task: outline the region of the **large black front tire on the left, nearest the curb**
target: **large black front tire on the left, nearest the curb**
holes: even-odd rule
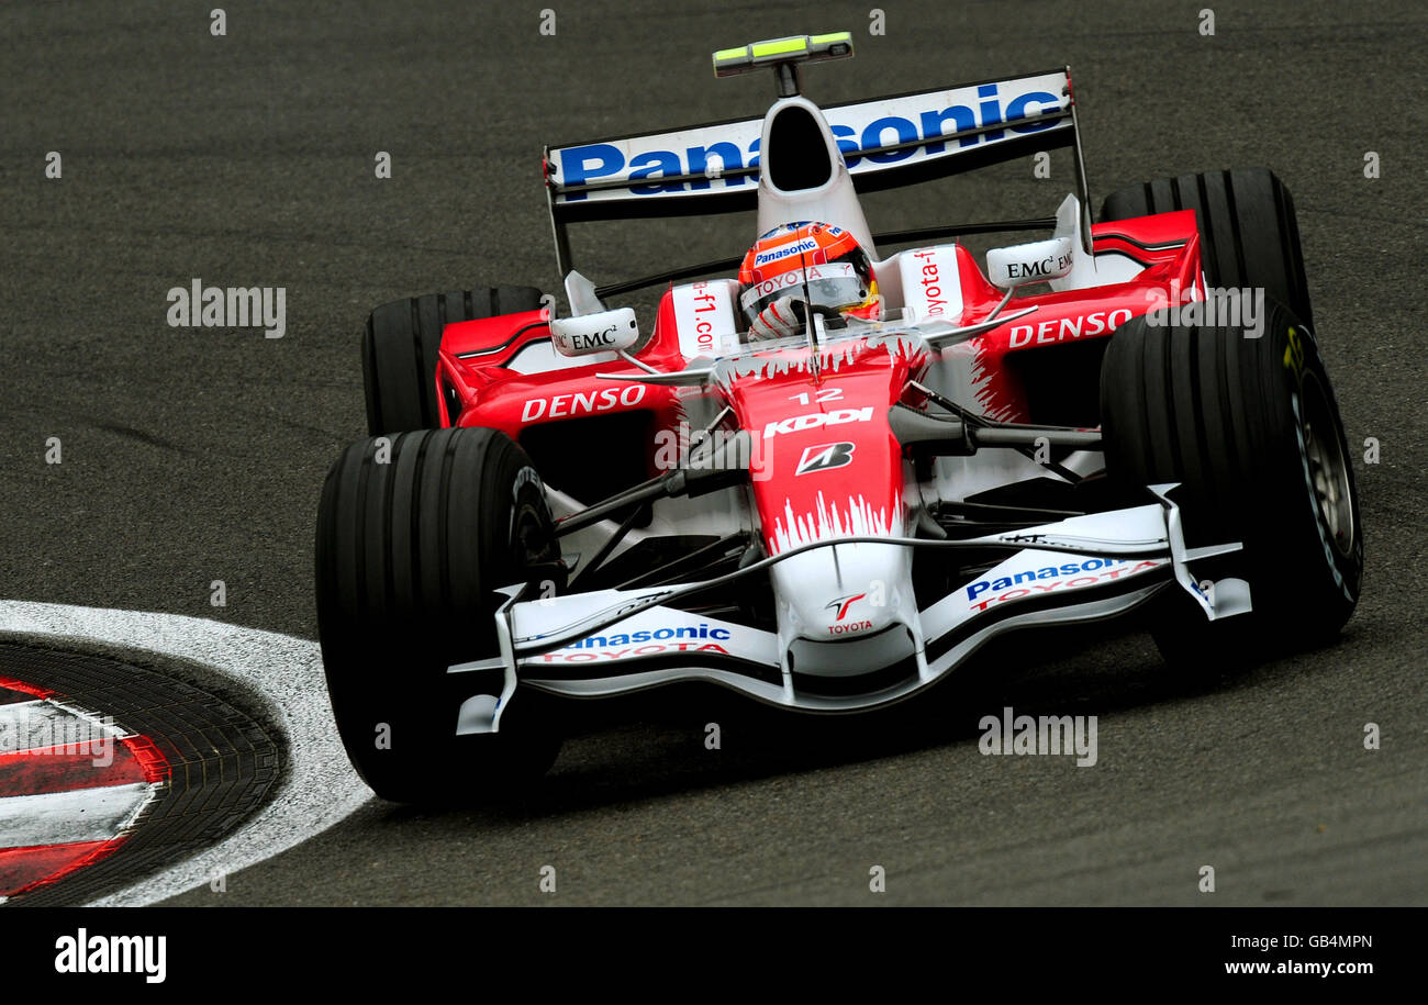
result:
[[[384,799],[508,791],[544,774],[560,734],[544,695],[517,691],[500,732],[456,735],[461,702],[501,692],[494,590],[558,560],[544,490],[506,434],[436,430],[348,447],[323,487],[317,617],[333,715]]]

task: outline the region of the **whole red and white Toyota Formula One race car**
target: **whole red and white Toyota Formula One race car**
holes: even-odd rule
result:
[[[544,772],[555,697],[858,711],[1022,628],[1137,612],[1204,668],[1352,612],[1354,474],[1279,180],[1151,181],[1092,224],[1068,69],[820,110],[803,66],[851,51],[724,50],[717,76],[774,73],[763,120],[547,148],[567,317],[523,287],[371,313],[317,601],[378,795]],[[868,230],[860,191],[1052,148],[1077,177],[1054,216]],[[740,208],[748,254],[571,268],[571,223]],[[1038,230],[985,271],[954,240]],[[664,284],[641,338],[611,301]]]

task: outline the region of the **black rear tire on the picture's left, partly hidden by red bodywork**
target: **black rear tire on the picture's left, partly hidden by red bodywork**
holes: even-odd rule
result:
[[[367,433],[377,437],[441,427],[447,407],[437,394],[441,330],[456,321],[540,310],[541,296],[527,286],[433,293],[394,300],[368,314],[361,355]],[[454,423],[456,417],[448,417],[448,424]]]

